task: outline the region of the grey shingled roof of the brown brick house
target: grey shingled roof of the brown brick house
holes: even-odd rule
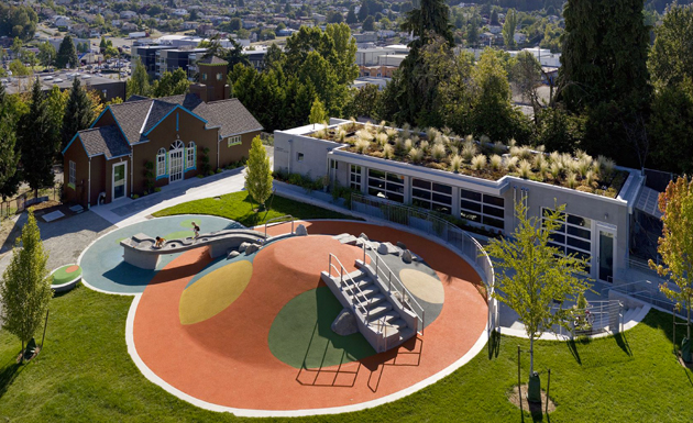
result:
[[[207,129],[219,127],[220,137],[262,130],[238,99],[206,103],[195,94],[158,99],[132,96],[123,103],[109,105],[114,125],[85,130],[78,134],[89,156],[103,154],[110,159],[129,154],[130,145],[146,141],[148,131],[176,108],[183,108],[207,121]]]

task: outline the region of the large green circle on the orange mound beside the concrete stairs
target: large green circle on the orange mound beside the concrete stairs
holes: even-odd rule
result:
[[[340,311],[342,304],[327,287],[295,297],[272,322],[270,350],[297,369],[338,366],[374,355],[361,333],[341,336],[332,332],[330,326]]]

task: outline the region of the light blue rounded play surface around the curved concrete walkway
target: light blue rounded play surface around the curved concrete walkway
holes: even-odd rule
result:
[[[200,226],[200,233],[244,227],[228,219],[193,214],[156,218],[121,227],[102,236],[87,248],[79,261],[84,280],[107,292],[140,293],[144,291],[154,275],[178,254],[162,255],[156,270],[145,270],[123,261],[123,247],[120,246],[120,241],[138,233],[163,236],[166,240],[193,236],[191,222]]]

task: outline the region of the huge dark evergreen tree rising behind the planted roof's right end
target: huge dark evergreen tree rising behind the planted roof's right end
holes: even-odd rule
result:
[[[563,16],[559,98],[568,111],[587,116],[582,147],[644,165],[642,143],[630,135],[649,114],[642,0],[569,0]]]

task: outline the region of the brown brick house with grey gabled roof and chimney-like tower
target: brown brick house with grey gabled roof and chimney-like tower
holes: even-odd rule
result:
[[[229,98],[227,66],[216,57],[199,63],[207,85],[193,86],[195,93],[133,96],[107,107],[63,151],[66,201],[87,208],[125,201],[197,177],[206,162],[213,171],[248,157],[262,126],[238,99]]]

